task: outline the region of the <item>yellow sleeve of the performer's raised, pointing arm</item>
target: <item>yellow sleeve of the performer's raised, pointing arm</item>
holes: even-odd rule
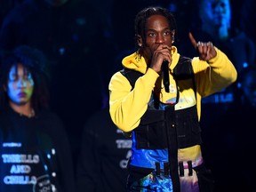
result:
[[[224,52],[214,47],[217,56],[207,63],[199,58],[192,60],[195,73],[197,92],[202,96],[208,96],[214,92],[228,87],[237,78],[236,68]]]

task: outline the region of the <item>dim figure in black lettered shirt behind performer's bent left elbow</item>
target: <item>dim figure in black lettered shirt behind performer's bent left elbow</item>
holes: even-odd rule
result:
[[[84,125],[78,158],[77,192],[126,192],[132,140],[117,129],[106,107]]]

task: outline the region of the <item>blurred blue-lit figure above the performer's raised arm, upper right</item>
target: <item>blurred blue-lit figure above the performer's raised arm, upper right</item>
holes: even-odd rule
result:
[[[191,25],[191,31],[196,38],[202,41],[210,40],[212,44],[220,47],[227,53],[228,58],[234,63],[237,72],[252,64],[255,58],[255,45],[244,31],[232,26],[232,9],[229,0],[197,0],[198,23]],[[193,47],[181,46],[181,52],[195,56]]]

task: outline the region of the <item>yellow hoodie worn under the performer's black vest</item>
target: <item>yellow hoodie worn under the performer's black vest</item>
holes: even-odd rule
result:
[[[226,54],[214,47],[217,56],[209,62],[199,60],[198,57],[192,59],[192,68],[195,74],[196,98],[193,86],[180,90],[180,100],[175,105],[175,110],[189,108],[196,104],[198,118],[201,115],[201,98],[227,87],[236,81],[236,68],[233,66]],[[164,103],[172,102],[176,97],[177,89],[173,80],[172,70],[178,63],[180,54],[175,46],[172,46],[172,65],[170,66],[170,92],[164,91],[164,84],[160,94],[160,101]],[[109,89],[109,112],[116,126],[124,132],[131,132],[140,124],[140,117],[148,108],[148,101],[155,87],[156,79],[159,75],[151,68],[148,68],[143,57],[134,52],[122,61],[124,68],[131,68],[140,71],[144,76],[140,76],[134,85],[116,72],[108,85]],[[186,85],[185,85],[186,86]],[[179,88],[178,88],[179,89]],[[131,91],[132,90],[132,91]]]

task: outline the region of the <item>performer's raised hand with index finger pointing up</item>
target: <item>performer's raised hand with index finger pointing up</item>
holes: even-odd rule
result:
[[[204,43],[204,42],[198,41],[196,43],[194,36],[192,36],[192,34],[190,32],[188,33],[188,37],[191,41],[191,44],[193,44],[196,51],[198,52],[200,60],[209,61],[212,58],[216,57],[217,52],[214,49],[212,42]]]

